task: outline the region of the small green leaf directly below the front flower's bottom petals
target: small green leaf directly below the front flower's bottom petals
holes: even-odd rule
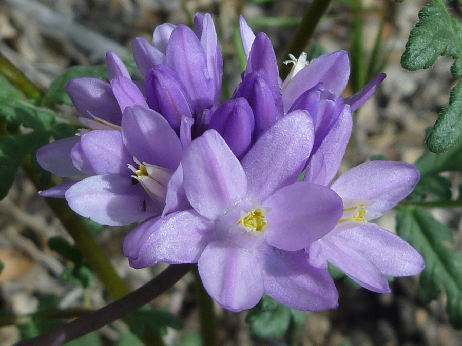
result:
[[[287,333],[290,326],[291,309],[264,295],[257,306],[249,311],[245,321],[252,335],[260,339],[279,339]]]

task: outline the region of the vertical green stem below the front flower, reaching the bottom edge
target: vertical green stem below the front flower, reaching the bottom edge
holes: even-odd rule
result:
[[[192,271],[196,288],[196,299],[201,320],[201,336],[203,346],[217,346],[217,326],[214,312],[214,301],[205,291],[197,267]]]

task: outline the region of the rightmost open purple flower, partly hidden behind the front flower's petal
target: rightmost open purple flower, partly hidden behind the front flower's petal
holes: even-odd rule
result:
[[[372,161],[354,167],[331,189],[343,199],[338,225],[308,249],[371,291],[390,293],[386,276],[409,276],[425,268],[424,259],[406,241],[369,221],[409,195],[418,170],[402,162]],[[305,176],[305,181],[311,181]]]

